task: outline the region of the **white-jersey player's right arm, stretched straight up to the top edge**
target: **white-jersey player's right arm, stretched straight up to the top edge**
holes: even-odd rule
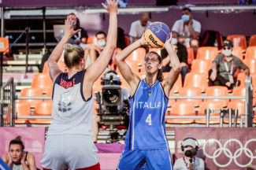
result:
[[[104,72],[113,56],[113,51],[117,47],[117,9],[119,0],[117,2],[114,0],[106,1],[108,6],[105,6],[105,4],[102,3],[102,6],[109,12],[109,31],[106,46],[98,59],[87,68],[87,72],[84,75],[84,83],[92,84],[102,75],[102,72]]]

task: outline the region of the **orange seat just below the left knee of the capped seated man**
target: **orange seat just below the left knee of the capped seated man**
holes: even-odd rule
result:
[[[206,96],[228,96],[228,87],[224,86],[212,86],[206,89]],[[205,99],[205,102],[219,102],[222,107],[226,107],[228,105],[228,99]]]

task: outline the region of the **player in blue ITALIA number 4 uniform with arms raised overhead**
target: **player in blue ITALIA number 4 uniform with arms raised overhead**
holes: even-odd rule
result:
[[[150,170],[173,169],[165,135],[165,111],[169,92],[180,74],[180,61],[170,42],[171,39],[168,39],[164,47],[169,53],[173,68],[166,79],[161,74],[161,57],[155,52],[147,53],[144,58],[145,79],[139,79],[125,62],[132,51],[147,45],[144,35],[117,54],[117,66],[131,87],[130,124],[117,169],[135,170],[145,163]]]

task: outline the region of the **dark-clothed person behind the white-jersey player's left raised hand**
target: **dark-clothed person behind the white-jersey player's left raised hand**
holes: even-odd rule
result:
[[[68,16],[76,17],[75,13],[69,13]],[[76,33],[76,35],[73,35],[69,39],[68,43],[80,45],[83,48],[87,48],[87,44],[86,44],[87,43],[87,38],[88,38],[87,31],[85,31],[83,28],[80,28],[80,20],[78,18],[76,18],[76,20],[74,20],[73,28],[74,28],[75,31],[78,30],[78,29],[80,29],[80,31],[78,31]],[[60,41],[63,38],[63,36],[64,36],[64,32],[60,35],[60,38],[59,38]]]

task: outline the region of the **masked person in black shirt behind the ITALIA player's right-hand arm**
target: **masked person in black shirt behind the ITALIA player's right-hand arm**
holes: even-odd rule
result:
[[[182,83],[184,83],[185,76],[188,72],[187,68],[187,48],[180,42],[178,42],[179,39],[179,34],[176,31],[172,31],[172,42],[173,46],[175,47],[175,51],[177,56],[179,57],[180,60],[180,74],[182,76]],[[168,53],[165,49],[161,50],[161,58],[162,58],[162,67],[161,67],[161,72],[169,72],[172,68],[172,65],[170,63],[170,59],[168,57]]]

